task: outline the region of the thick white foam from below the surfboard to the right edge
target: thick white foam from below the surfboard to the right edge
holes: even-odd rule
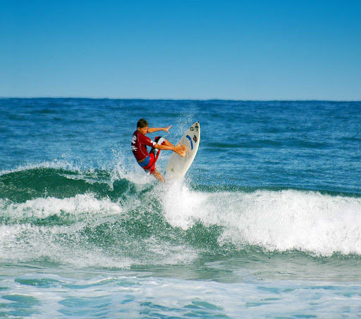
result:
[[[196,220],[224,227],[221,245],[361,255],[361,199],[293,190],[202,193],[173,184],[163,207],[173,227],[188,229]]]

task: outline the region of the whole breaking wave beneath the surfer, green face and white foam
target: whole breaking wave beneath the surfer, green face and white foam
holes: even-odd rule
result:
[[[4,173],[0,185],[8,263],[131,268],[250,251],[361,257],[355,195],[135,184],[115,172],[47,166]]]

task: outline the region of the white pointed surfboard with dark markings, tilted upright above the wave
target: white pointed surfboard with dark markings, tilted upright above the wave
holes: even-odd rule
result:
[[[193,123],[184,133],[181,141],[187,147],[185,157],[173,152],[166,165],[166,180],[179,180],[192,165],[200,146],[200,123]]]

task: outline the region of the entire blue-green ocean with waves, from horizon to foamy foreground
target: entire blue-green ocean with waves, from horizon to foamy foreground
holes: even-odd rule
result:
[[[0,99],[0,318],[357,317],[361,102]]]

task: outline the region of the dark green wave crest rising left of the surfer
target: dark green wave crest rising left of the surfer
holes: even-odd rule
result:
[[[87,193],[99,199],[118,200],[141,188],[126,177],[120,177],[116,170],[81,169],[64,163],[25,166],[0,175],[0,199],[16,203],[39,197],[64,199]]]

